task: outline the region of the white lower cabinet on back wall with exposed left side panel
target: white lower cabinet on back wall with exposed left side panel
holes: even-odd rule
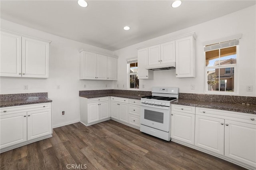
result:
[[[86,126],[110,119],[109,97],[80,97],[80,122]]]

